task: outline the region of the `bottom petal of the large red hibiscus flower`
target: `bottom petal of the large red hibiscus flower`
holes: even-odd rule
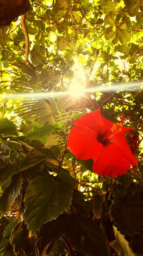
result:
[[[93,172],[105,177],[117,177],[130,170],[130,161],[126,159],[124,150],[121,148],[109,144],[103,146],[100,153],[98,160],[93,158]]]

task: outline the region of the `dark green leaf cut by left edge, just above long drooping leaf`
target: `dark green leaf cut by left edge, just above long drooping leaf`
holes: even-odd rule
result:
[[[9,178],[15,173],[16,162],[13,164],[6,164],[4,168],[0,170],[0,186],[2,186]]]

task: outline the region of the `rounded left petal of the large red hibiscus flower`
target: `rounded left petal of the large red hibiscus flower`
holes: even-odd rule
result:
[[[99,157],[102,144],[97,140],[95,131],[91,128],[74,126],[68,135],[67,148],[82,160]]]

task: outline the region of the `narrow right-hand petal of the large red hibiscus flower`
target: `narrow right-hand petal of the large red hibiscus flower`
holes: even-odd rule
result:
[[[126,127],[126,128],[128,128],[128,127]],[[124,155],[126,156],[126,159],[132,165],[138,164],[136,158],[134,157],[134,155],[132,154],[132,151],[130,150],[130,147],[128,145],[128,142],[126,140],[124,132],[114,133],[112,138],[110,139],[110,143],[121,148],[124,151]]]

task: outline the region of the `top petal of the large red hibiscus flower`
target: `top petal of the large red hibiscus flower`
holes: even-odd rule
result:
[[[104,133],[111,133],[113,124],[113,122],[108,121],[102,117],[100,108],[98,108],[96,111],[85,113],[83,116],[77,120],[74,120],[73,122],[73,125],[75,126],[81,126],[85,128],[92,127],[95,132],[97,134],[100,133],[100,135],[103,135]]]

